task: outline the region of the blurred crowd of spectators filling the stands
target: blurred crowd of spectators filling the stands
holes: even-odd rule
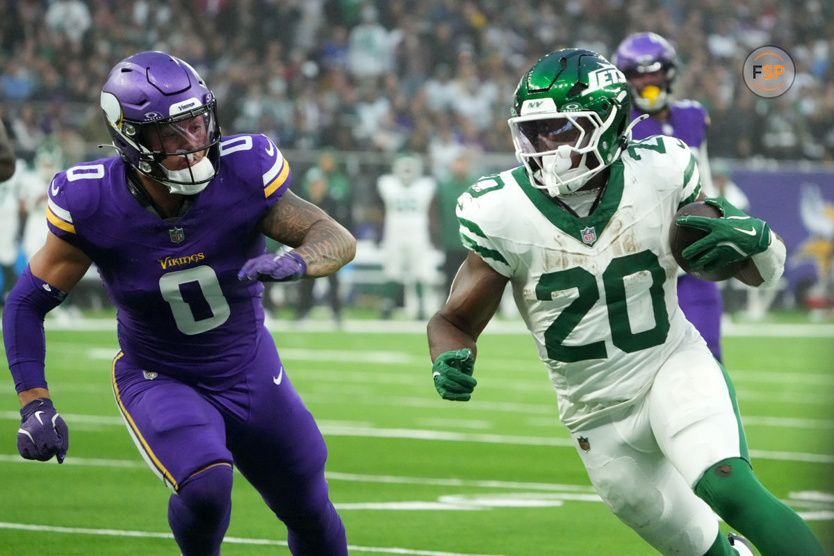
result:
[[[214,89],[224,133],[281,148],[427,155],[442,177],[464,149],[511,153],[520,74],[563,46],[610,56],[628,33],[675,45],[681,97],[712,116],[713,158],[834,159],[834,3],[825,0],[3,0],[0,118],[21,153],[60,143],[69,163],[108,143],[109,68],[160,49]],[[741,80],[754,48],[791,54],[776,99]],[[109,154],[109,153],[108,153]]]

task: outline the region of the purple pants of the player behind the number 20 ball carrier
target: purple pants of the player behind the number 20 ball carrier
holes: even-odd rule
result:
[[[713,357],[721,361],[721,291],[715,282],[689,274],[678,277],[678,304],[686,320],[706,340]]]

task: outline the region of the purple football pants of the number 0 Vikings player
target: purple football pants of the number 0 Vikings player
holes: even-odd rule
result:
[[[143,373],[119,353],[113,392],[128,431],[174,493],[188,486],[193,473],[234,463],[287,526],[291,553],[346,556],[344,525],[324,480],[324,438],[269,333],[256,350],[240,381],[219,392]],[[228,491],[224,496],[231,496],[230,484]],[[228,527],[228,520],[221,526]],[[219,553],[219,546],[206,553]]]

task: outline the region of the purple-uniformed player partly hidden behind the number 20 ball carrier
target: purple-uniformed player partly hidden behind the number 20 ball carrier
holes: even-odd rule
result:
[[[617,47],[613,62],[629,84],[631,119],[643,114],[649,116],[631,128],[632,138],[669,135],[681,139],[698,161],[701,187],[707,197],[714,197],[716,193],[706,157],[706,128],[710,117],[694,100],[671,100],[671,87],[678,70],[675,48],[657,33],[634,33]],[[721,361],[721,292],[718,284],[681,271],[678,298],[686,318]]]

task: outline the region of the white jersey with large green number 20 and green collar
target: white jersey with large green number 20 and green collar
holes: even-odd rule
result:
[[[588,218],[534,188],[524,167],[460,196],[463,241],[510,278],[570,430],[635,403],[682,343],[703,342],[678,308],[668,241],[699,191],[690,149],[656,135],[611,164]]]

